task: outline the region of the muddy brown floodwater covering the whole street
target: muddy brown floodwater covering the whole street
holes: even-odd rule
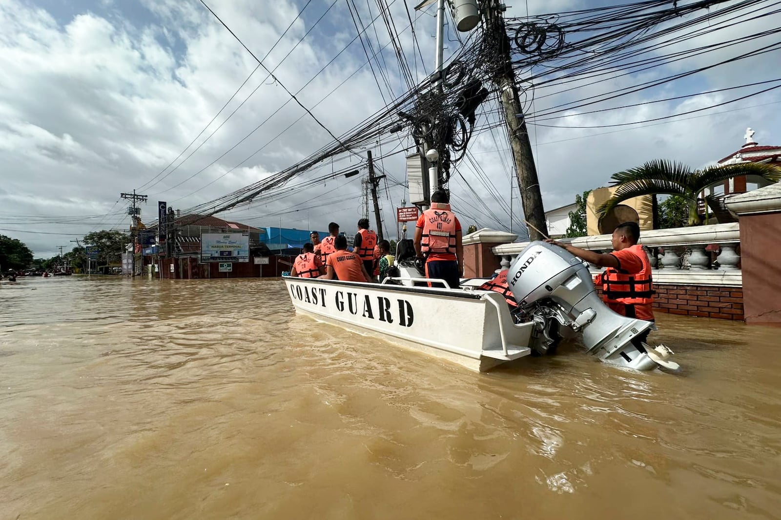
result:
[[[279,280],[20,278],[0,518],[779,518],[779,331],[659,321],[679,375],[575,346],[481,374]]]

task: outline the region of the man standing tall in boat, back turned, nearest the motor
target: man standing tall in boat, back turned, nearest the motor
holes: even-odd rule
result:
[[[431,207],[418,218],[415,253],[419,258],[426,257],[426,278],[441,278],[451,288],[461,286],[464,274],[461,223],[450,209],[450,196],[444,189],[431,194]]]

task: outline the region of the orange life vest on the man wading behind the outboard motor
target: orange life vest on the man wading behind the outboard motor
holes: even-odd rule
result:
[[[609,304],[622,304],[627,307],[626,315],[637,317],[640,320],[652,320],[651,302],[654,301],[654,287],[651,280],[651,263],[648,262],[648,256],[643,250],[643,246],[635,244],[629,247],[643,262],[643,269],[639,273],[628,274],[626,271],[619,271],[613,267],[608,267],[601,274],[602,299]],[[631,316],[642,307],[647,308],[647,313],[640,312],[642,316]],[[647,315],[647,316],[646,316]]]

